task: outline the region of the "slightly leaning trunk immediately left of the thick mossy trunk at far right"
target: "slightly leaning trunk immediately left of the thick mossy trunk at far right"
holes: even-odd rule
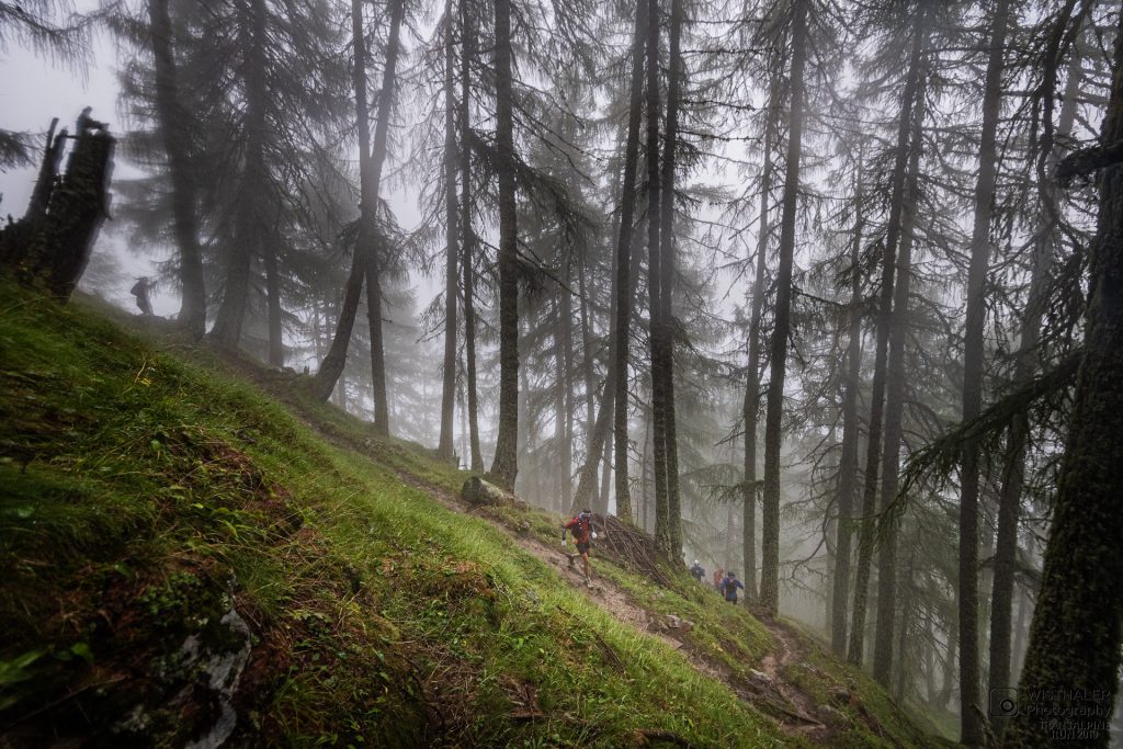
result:
[[[1056,141],[1063,144],[1071,135],[1076,121],[1076,104],[1079,95],[1081,57],[1076,49],[1068,68],[1068,80],[1065,86],[1063,103],[1057,120]],[[1048,156],[1047,173],[1052,174],[1061,147],[1054,147]],[[1041,185],[1041,190],[1053,193],[1056,204],[1059,191],[1056,185]],[[1041,205],[1044,214],[1047,208]],[[1014,365],[1015,386],[1028,383],[1037,369],[1038,342],[1041,334],[1041,318],[1048,303],[1048,283],[1052,267],[1052,253],[1056,243],[1056,227],[1043,216],[1037,227],[1034,240],[1033,270],[1030,278],[1030,293],[1025,302],[1022,318],[1017,355]],[[1022,503],[1022,488],[1025,485],[1025,450],[1030,438],[1030,420],[1025,413],[1016,413],[1011,420],[1010,436],[1006,440],[1006,453],[1002,468],[1002,487],[998,495],[998,532],[995,540],[994,577],[990,595],[990,651],[987,686],[989,689],[1010,688],[1016,684],[1011,674],[1011,615],[1014,597],[1014,572],[1017,556],[1017,518]],[[1023,608],[1019,616],[1024,615]],[[1019,623],[1019,628],[1022,623]],[[1022,632],[1019,632],[1021,636]],[[1021,649],[1021,646],[1017,647]],[[996,736],[1002,737],[1006,725],[1003,715],[992,716],[992,728]]]

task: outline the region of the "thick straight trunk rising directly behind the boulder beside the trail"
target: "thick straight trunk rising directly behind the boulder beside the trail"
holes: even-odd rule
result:
[[[495,0],[495,173],[499,177],[499,433],[491,473],[506,488],[519,473],[519,248],[511,101],[511,0]]]

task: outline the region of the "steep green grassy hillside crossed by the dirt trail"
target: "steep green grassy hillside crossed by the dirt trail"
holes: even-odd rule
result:
[[[930,742],[797,632],[575,585],[555,518],[103,312],[0,285],[0,745]]]

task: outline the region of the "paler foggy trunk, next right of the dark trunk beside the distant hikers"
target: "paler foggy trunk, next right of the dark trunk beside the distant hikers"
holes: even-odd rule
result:
[[[862,158],[858,158],[855,188],[853,240],[850,244],[850,331],[846,356],[846,392],[842,395],[842,455],[839,458],[838,522],[834,542],[834,576],[831,596],[831,648],[846,656],[846,614],[850,601],[850,561],[853,540],[853,504],[858,487],[858,391],[861,389],[861,240]]]

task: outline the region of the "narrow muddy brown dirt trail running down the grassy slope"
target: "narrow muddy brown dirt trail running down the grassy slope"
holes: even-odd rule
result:
[[[789,664],[802,660],[802,651],[796,639],[783,624],[760,620],[776,639],[777,650],[765,656],[758,664],[758,669],[751,672],[751,678],[746,681],[730,672],[721,663],[709,659],[704,652],[691,647],[688,640],[673,636],[681,630],[668,630],[663,625],[663,618],[649,614],[639,606],[631,595],[610,579],[596,575],[586,581],[581,559],[572,559],[560,545],[550,546],[526,532],[508,527],[489,512],[487,508],[471,508],[448,490],[429,485],[414,476],[399,472],[402,482],[424,491],[437,499],[449,510],[473,514],[490,521],[495,528],[506,533],[520,548],[547,563],[574,588],[582,592],[618,621],[654,637],[682,652],[700,673],[725,684],[738,697],[748,702],[761,713],[776,720],[780,729],[793,737],[802,737],[819,742],[827,742],[832,730],[814,718],[815,702],[796,685],[785,677]]]

